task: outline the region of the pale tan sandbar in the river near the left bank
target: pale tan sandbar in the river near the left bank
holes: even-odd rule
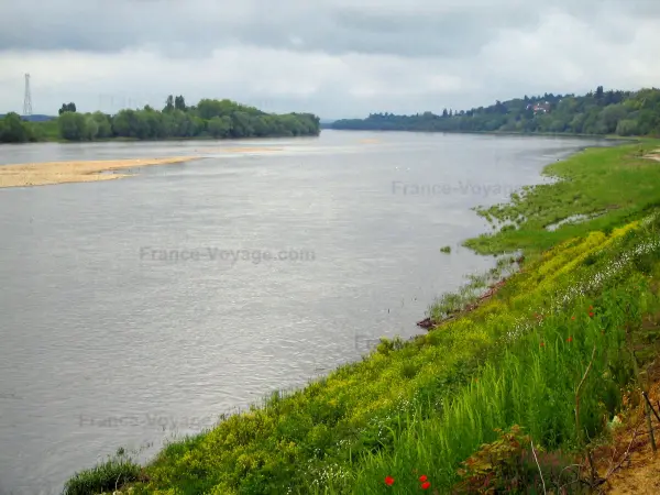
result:
[[[200,156],[166,158],[101,160],[92,162],[46,162],[0,165],[0,187],[46,186],[50,184],[90,183],[130,177],[134,174],[101,174],[107,170],[165,165],[198,160]]]

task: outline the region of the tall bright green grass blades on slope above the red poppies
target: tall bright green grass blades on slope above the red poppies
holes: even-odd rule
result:
[[[580,425],[587,439],[601,435],[620,404],[622,386],[632,376],[627,329],[640,327],[641,315],[659,306],[639,274],[604,293],[593,318],[588,302],[582,299],[571,307],[575,320],[571,312],[546,318],[501,361],[485,364],[470,385],[446,396],[446,407],[437,415],[425,419],[416,411],[391,451],[363,457],[354,486],[363,494],[387,493],[383,480],[392,476],[397,494],[419,493],[417,476],[425,473],[440,493],[448,493],[459,480],[460,463],[482,443],[494,441],[495,428],[512,425],[525,427],[538,446],[578,450],[575,393],[594,348],[581,393]]]

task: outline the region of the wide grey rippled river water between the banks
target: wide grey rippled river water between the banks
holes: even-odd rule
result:
[[[148,459],[418,333],[438,295],[493,265],[460,246],[487,230],[471,208],[588,144],[323,131],[0,146],[0,164],[204,156],[0,189],[0,494],[59,493],[120,447]]]

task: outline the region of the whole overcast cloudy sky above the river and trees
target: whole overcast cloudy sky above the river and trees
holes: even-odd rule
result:
[[[0,0],[0,113],[230,98],[321,118],[660,86],[660,0]]]

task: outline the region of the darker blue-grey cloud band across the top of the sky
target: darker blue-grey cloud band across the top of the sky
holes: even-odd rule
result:
[[[388,3],[391,7],[387,7]],[[656,0],[382,2],[341,0],[3,0],[0,50],[112,52],[146,44],[194,56],[228,43],[395,54],[474,54],[505,29],[535,29],[553,8],[586,20],[660,15]],[[395,8],[396,7],[396,8]],[[605,26],[606,28],[606,26]],[[606,29],[604,30],[606,34]],[[292,43],[295,36],[300,43]]]

